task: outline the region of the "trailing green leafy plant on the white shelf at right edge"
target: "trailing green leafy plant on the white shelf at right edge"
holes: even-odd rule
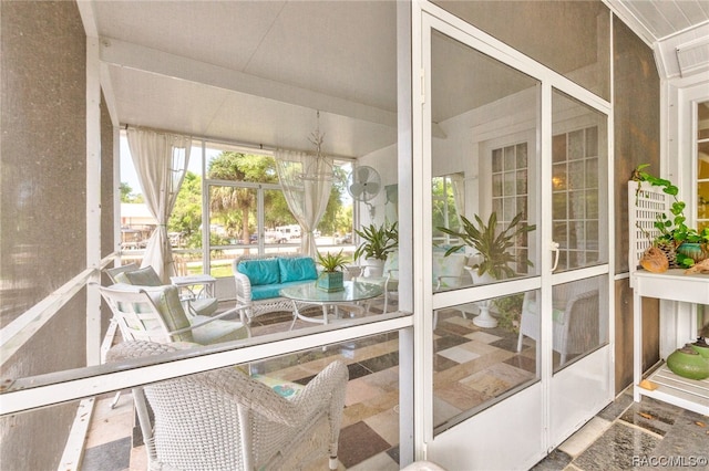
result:
[[[647,181],[672,197],[672,203],[669,208],[671,216],[661,214],[654,223],[655,229],[659,231],[659,236],[651,240],[653,245],[665,253],[670,266],[688,269],[709,255],[709,248],[707,247],[709,243],[709,228],[698,231],[695,228],[687,227],[687,218],[685,217],[687,205],[677,197],[679,188],[668,179],[648,174],[645,171],[647,167],[649,167],[649,164],[641,164],[633,171],[633,180],[638,181],[637,191],[640,190],[639,182]]]

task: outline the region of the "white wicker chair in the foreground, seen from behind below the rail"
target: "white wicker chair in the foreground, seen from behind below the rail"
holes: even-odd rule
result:
[[[109,359],[176,349],[169,344],[129,342],[113,347]],[[335,470],[348,378],[345,364],[333,362],[292,400],[238,368],[135,388],[150,468],[298,470],[329,457]],[[145,398],[154,412],[154,427]]]

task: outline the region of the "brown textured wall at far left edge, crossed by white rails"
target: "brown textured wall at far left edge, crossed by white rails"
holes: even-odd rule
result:
[[[85,35],[76,4],[0,2],[0,326],[85,269]],[[85,364],[85,295],[1,371]],[[1,400],[1,399],[0,399]],[[0,421],[2,469],[56,469],[75,407]]]

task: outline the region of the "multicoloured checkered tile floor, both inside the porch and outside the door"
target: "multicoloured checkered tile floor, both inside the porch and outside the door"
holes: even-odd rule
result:
[[[255,325],[255,335],[282,328],[282,323],[289,321],[287,314],[264,316]],[[530,359],[530,349],[516,353],[516,336],[503,338],[500,331],[480,331],[471,324],[460,315],[439,320],[434,364],[436,375],[442,375],[436,380],[442,385],[440,381],[446,374],[458,379],[450,391],[443,388],[439,394],[446,407],[440,408],[442,416],[436,417],[436,422],[533,377],[534,362]],[[256,364],[255,367],[269,376],[306,384],[333,357],[345,360],[350,380],[340,432],[339,469],[398,470],[397,349],[397,335],[386,334],[325,352]],[[481,365],[485,367],[481,368]],[[461,368],[473,368],[477,373],[461,376]],[[82,469],[145,470],[144,449],[133,443],[132,438],[131,396],[123,394],[114,409],[110,408],[112,400],[113,395],[97,398]],[[649,398],[636,404],[629,393],[625,393],[534,469],[608,471],[630,469],[634,464],[657,469],[659,467],[654,464],[661,463],[658,460],[666,457],[685,459],[680,464],[700,464],[692,469],[709,470],[706,461],[701,465],[702,459],[709,459],[709,418]],[[327,469],[327,461],[318,469]]]

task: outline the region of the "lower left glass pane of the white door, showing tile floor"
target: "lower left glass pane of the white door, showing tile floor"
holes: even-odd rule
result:
[[[434,314],[433,419],[442,431],[538,378],[536,292],[461,304]],[[492,328],[475,320],[489,310]],[[526,329],[523,335],[523,328]]]

